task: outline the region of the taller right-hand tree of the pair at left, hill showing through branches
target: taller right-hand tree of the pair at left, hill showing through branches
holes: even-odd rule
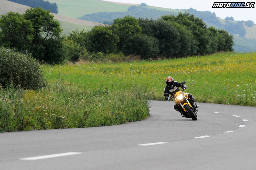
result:
[[[34,38],[29,51],[33,57],[45,60],[49,63],[59,63],[64,59],[62,49],[61,33],[59,21],[54,19],[50,10],[42,8],[30,8],[24,13],[24,18],[33,23]],[[55,55],[52,55],[52,54]]]

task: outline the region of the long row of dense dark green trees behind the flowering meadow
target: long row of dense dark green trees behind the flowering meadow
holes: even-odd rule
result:
[[[106,38],[108,37],[108,38]],[[206,24],[194,15],[179,13],[161,19],[114,19],[111,26],[95,26],[91,31],[73,32],[68,39],[90,53],[123,53],[143,59],[205,55],[233,51],[233,36]]]

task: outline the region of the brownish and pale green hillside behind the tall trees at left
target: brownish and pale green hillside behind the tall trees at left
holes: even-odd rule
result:
[[[17,4],[14,2],[6,1],[6,0],[0,0],[0,14],[6,15],[9,11],[13,12],[19,12],[20,14],[23,14],[25,10],[30,8],[29,6]],[[62,16],[59,14],[53,14],[54,18],[60,21],[63,29],[63,34],[68,34],[68,32],[71,32],[73,30],[90,30],[93,26],[98,25],[100,23],[98,22],[92,22],[92,21],[85,21],[80,20],[76,18],[71,18],[68,16]]]

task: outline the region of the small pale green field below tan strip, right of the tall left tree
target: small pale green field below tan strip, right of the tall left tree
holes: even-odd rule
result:
[[[77,25],[77,24],[72,24],[70,22],[66,21],[59,21],[61,24],[61,28],[63,29],[62,35],[68,36],[69,33],[72,33],[72,31],[78,30],[79,32],[84,30],[84,31],[90,31],[93,27],[92,26],[85,26],[85,25]]]

